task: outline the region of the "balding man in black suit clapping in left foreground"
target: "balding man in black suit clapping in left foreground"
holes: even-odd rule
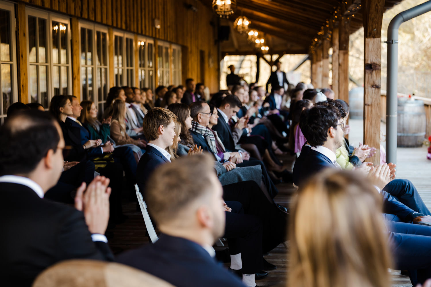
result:
[[[9,118],[0,130],[0,276],[4,286],[31,286],[45,268],[66,259],[112,260],[106,231],[109,179],[78,188],[75,207],[44,200],[63,169],[59,124],[41,111]]]

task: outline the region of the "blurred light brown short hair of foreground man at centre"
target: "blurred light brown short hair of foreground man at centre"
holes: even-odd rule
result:
[[[145,188],[145,201],[156,223],[175,220],[181,211],[211,190],[214,161],[208,154],[181,157],[162,164]]]

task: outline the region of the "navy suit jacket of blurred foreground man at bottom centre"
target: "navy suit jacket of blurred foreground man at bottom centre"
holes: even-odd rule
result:
[[[177,287],[244,287],[199,244],[184,238],[163,234],[154,244],[120,254],[117,261]]]

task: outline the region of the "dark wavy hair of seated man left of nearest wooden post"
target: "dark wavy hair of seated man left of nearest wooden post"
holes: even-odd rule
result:
[[[319,102],[308,110],[304,110],[300,117],[300,129],[307,142],[316,147],[323,145],[328,139],[330,127],[337,129],[340,111],[334,105],[319,105]]]

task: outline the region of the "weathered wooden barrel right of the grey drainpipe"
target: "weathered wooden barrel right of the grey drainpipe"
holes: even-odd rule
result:
[[[421,147],[425,139],[426,116],[421,100],[398,99],[397,146]]]

